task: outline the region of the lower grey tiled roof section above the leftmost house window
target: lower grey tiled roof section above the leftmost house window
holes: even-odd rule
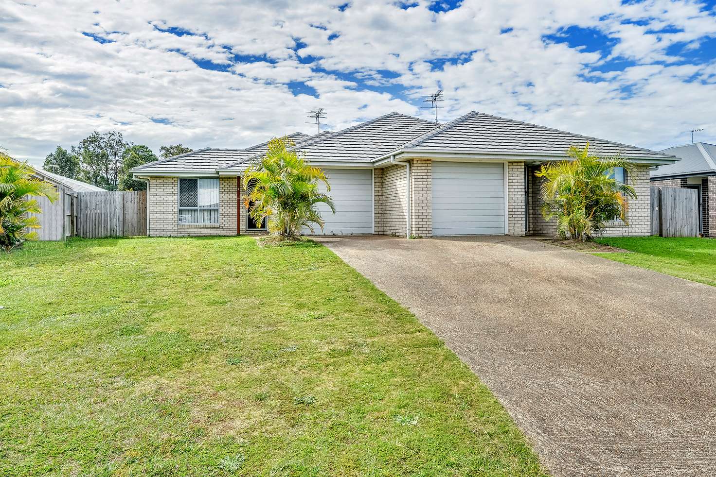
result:
[[[288,135],[294,142],[305,141],[311,136],[302,132],[294,132]],[[178,156],[160,159],[154,162],[147,162],[132,169],[132,172],[153,172],[171,170],[172,172],[215,172],[216,169],[225,167],[228,164],[239,162],[256,154],[266,152],[268,142],[262,142],[246,149],[214,149],[205,147],[192,152],[179,154]]]

